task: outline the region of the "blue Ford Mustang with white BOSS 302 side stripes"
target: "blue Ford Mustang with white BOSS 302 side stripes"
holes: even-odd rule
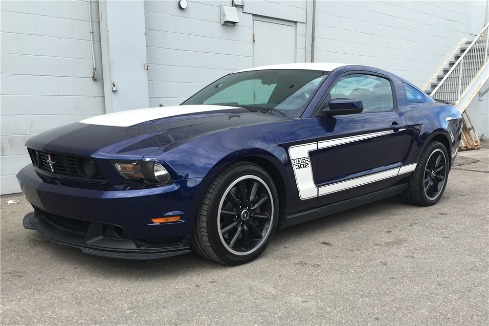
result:
[[[388,196],[440,200],[462,117],[367,66],[228,74],[176,107],[92,117],[27,142],[23,219],[84,253],[155,259],[192,248],[241,264],[276,229]]]

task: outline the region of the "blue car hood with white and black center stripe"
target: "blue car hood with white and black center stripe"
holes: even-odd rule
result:
[[[96,158],[141,159],[196,137],[232,128],[290,120],[283,116],[213,105],[116,112],[91,117],[32,137],[29,148]]]

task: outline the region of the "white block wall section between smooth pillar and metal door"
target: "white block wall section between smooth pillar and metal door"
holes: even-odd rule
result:
[[[150,107],[178,105],[223,75],[253,66],[252,15],[221,25],[231,1],[145,1]],[[229,3],[227,3],[229,2]]]

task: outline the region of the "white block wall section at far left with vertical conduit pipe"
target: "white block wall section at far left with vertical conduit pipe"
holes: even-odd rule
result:
[[[95,82],[87,1],[1,2],[1,194],[20,192],[27,139],[105,113],[96,1],[91,11]]]

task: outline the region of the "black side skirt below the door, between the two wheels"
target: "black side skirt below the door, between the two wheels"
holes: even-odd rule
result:
[[[325,217],[342,211],[346,211],[350,208],[358,207],[361,205],[369,204],[371,202],[400,195],[406,190],[408,184],[401,184],[384,190],[377,191],[375,193],[339,201],[326,206],[316,207],[311,210],[290,214],[284,221],[282,227],[289,227],[295,224],[311,221],[316,218]]]

